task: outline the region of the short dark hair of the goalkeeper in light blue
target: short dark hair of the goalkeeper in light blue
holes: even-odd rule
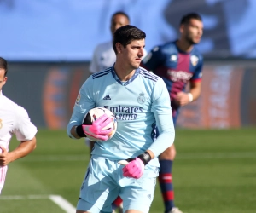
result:
[[[146,37],[146,33],[138,29],[136,26],[121,26],[113,34],[113,50],[117,53],[115,44],[121,43],[124,47],[134,40],[142,40]]]

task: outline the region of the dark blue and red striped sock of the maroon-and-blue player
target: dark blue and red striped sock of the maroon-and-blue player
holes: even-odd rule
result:
[[[174,207],[174,192],[172,186],[172,160],[160,160],[160,173],[158,177],[166,213]]]

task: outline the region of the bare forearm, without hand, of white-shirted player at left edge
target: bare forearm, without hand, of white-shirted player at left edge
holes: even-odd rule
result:
[[[32,153],[32,151],[36,148],[37,140],[36,137],[33,137],[30,141],[22,141],[20,145],[15,148],[15,150],[9,152],[8,158],[9,162],[13,162],[18,158],[23,158],[27,154]]]

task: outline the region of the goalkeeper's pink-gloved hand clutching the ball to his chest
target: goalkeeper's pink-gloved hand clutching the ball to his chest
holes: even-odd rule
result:
[[[82,124],[77,127],[77,134],[80,137],[90,135],[99,141],[107,141],[108,134],[113,131],[113,128],[102,130],[112,122],[112,118],[108,118],[107,114],[103,114],[100,118],[97,118],[91,125]]]

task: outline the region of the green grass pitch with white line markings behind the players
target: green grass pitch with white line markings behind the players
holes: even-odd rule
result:
[[[0,212],[61,213],[76,206],[89,147],[65,130],[38,130],[37,138],[33,153],[9,164]],[[177,129],[175,144],[175,203],[184,213],[256,212],[256,128]],[[17,145],[14,137],[10,150]],[[66,200],[64,209],[53,198]],[[163,212],[157,185],[150,213]]]

